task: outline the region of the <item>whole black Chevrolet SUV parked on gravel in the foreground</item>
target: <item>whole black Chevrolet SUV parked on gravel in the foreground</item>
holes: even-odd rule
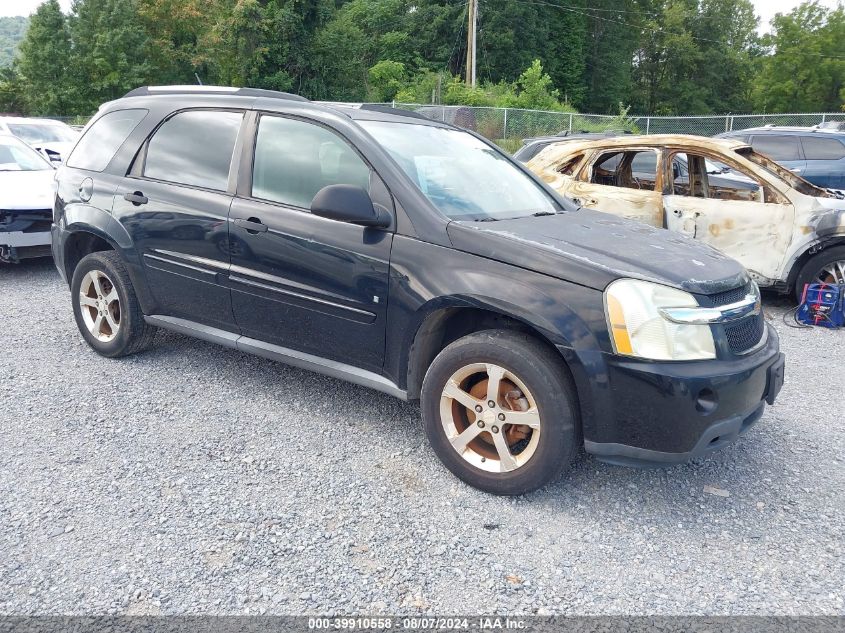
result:
[[[420,400],[446,467],[498,494],[582,443],[614,463],[702,455],[783,380],[738,263],[575,208],[414,113],[141,88],[87,126],[54,223],[98,353],[165,328]]]

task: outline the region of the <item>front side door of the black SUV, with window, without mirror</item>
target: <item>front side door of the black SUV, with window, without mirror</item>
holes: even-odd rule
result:
[[[229,216],[235,320],[244,336],[381,370],[393,233],[312,215],[327,185],[368,189],[392,212],[379,177],[337,133],[261,115]]]

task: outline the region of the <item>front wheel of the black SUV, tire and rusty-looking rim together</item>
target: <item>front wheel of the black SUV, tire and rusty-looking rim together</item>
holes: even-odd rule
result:
[[[576,396],[553,351],[507,330],[446,347],[422,389],[425,431],[443,464],[469,485],[519,495],[557,479],[580,443]]]

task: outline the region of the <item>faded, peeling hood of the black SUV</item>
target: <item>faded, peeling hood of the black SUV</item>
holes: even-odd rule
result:
[[[713,294],[749,280],[739,262],[706,244],[587,209],[497,222],[452,222],[447,230],[459,250],[597,290],[629,277]]]

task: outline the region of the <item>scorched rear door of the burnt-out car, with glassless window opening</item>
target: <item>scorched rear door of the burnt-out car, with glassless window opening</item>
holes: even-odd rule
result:
[[[659,164],[654,149],[598,152],[566,195],[576,204],[662,227]]]

